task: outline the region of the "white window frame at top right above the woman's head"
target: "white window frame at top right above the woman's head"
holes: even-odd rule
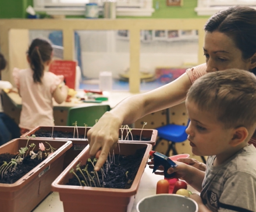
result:
[[[219,10],[235,5],[251,6],[256,9],[256,0],[198,0],[195,12],[198,16],[211,16]]]

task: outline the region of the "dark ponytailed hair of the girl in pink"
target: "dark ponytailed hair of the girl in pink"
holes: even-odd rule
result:
[[[30,67],[34,71],[34,82],[41,83],[44,76],[44,63],[49,61],[52,56],[52,46],[44,39],[36,38],[32,41],[27,52],[30,59]]]

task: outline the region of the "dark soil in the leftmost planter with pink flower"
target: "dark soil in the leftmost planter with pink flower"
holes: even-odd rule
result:
[[[3,153],[0,154],[0,166],[2,166],[3,161],[9,163],[11,159],[15,159],[15,154]],[[13,184],[18,179],[22,178],[25,174],[29,173],[29,171],[33,170],[38,164],[40,164],[42,160],[31,159],[31,156],[24,157],[21,164],[18,164],[15,171],[8,171],[5,175],[0,175],[0,183],[1,184]]]

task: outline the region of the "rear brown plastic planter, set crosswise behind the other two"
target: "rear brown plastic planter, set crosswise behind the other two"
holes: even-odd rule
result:
[[[87,127],[87,130],[90,130],[91,127]],[[38,130],[45,130],[45,131],[52,131],[52,127],[48,126],[39,126],[35,127],[33,130],[26,132],[23,134],[21,137],[26,138],[26,136],[31,136],[35,134],[36,131]],[[84,135],[84,127],[77,127],[79,135]],[[69,127],[69,126],[55,126],[54,131],[63,131],[63,132],[74,132],[74,127]],[[141,129],[131,129],[131,132],[133,135],[137,135],[140,137],[141,134]],[[127,131],[123,130],[123,139],[126,138]],[[76,134],[77,135],[77,134]],[[75,135],[75,136],[76,136]],[[119,131],[119,137],[121,138],[121,130]],[[157,141],[157,130],[147,130],[144,129],[142,132],[142,136],[145,138],[150,138],[149,141],[129,141],[129,142],[140,142],[140,143],[150,143],[151,145],[155,145],[155,142]],[[66,168],[73,160],[74,158],[83,150],[87,145],[88,145],[88,139],[83,139],[83,138],[52,138],[52,137],[37,137],[38,139],[61,139],[61,140],[68,140],[73,142],[73,147],[66,152],[66,156],[64,159],[64,165],[63,167]],[[122,141],[122,140],[120,140]],[[128,142],[128,141],[127,141]]]

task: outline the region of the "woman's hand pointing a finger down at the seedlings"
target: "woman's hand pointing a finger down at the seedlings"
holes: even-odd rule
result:
[[[87,132],[88,142],[90,144],[90,156],[98,157],[95,164],[95,171],[101,169],[108,157],[108,153],[113,150],[119,137],[119,128],[121,122],[115,114],[106,112],[98,122]]]

